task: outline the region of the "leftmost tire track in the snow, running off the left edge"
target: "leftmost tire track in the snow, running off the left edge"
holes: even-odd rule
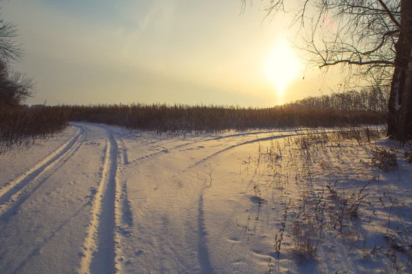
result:
[[[67,160],[69,160],[69,158],[71,158],[71,156],[76,153],[76,151],[78,151],[83,142],[83,140],[80,142],[78,142],[78,140],[81,136],[83,136],[84,139],[84,136],[86,136],[86,129],[84,129],[84,127],[80,125],[75,126],[79,129],[78,134],[52,151],[52,153],[49,153],[49,155],[32,166],[32,168],[25,171],[25,173],[19,175],[19,177],[16,177],[6,186],[0,189],[0,206],[3,206],[4,203],[8,202],[8,207],[5,208],[7,210],[8,208],[10,208],[10,205],[14,205],[13,207],[15,208],[16,205],[18,206],[23,203],[23,201],[25,201],[24,198],[27,198],[30,193],[28,195],[20,195],[21,190],[24,190],[25,187],[36,182],[38,183],[38,185],[36,186],[37,188],[42,182],[45,181],[45,179],[47,179],[47,177],[49,177],[45,176],[51,169],[53,169],[55,166],[57,166],[57,169],[60,168],[61,164],[67,162]],[[59,163],[61,164],[58,165]],[[36,190],[36,188],[34,188],[34,190]],[[0,208],[0,214],[3,214],[4,211],[5,210],[3,208]]]

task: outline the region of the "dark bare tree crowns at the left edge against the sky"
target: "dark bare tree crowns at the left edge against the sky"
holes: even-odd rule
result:
[[[0,14],[0,108],[21,105],[35,93],[33,79],[11,69],[23,58],[18,35],[16,25],[3,21]]]

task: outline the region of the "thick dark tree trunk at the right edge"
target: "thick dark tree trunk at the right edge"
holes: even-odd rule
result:
[[[395,70],[388,104],[387,135],[396,140],[412,139],[412,1],[401,0],[400,35],[396,43]],[[409,108],[408,108],[409,106]]]

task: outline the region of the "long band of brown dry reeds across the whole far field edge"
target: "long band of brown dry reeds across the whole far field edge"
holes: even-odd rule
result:
[[[365,110],[315,110],[282,105],[241,108],[219,105],[57,105],[0,108],[0,154],[28,147],[37,138],[61,132],[69,121],[105,123],[158,134],[216,133],[227,130],[346,127],[385,123],[385,115]]]

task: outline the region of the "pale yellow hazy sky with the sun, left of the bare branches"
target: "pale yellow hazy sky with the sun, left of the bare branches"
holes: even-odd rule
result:
[[[293,47],[290,14],[265,1],[10,0],[34,77],[27,103],[184,103],[269,107],[329,92]],[[267,1],[266,1],[267,3]],[[262,22],[263,21],[263,22]]]

